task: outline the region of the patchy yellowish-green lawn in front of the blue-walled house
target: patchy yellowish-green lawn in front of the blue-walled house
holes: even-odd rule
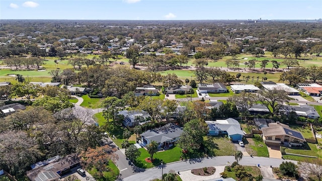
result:
[[[233,155],[236,151],[233,143],[227,137],[205,136],[204,140],[210,156]]]

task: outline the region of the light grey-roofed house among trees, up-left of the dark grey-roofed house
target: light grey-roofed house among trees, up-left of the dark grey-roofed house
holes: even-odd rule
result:
[[[151,116],[142,110],[123,110],[119,111],[118,115],[124,116],[123,125],[127,128],[133,128],[136,125],[143,125],[151,120]]]

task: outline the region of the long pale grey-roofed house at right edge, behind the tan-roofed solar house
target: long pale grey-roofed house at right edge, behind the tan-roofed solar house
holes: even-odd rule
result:
[[[300,105],[300,106],[283,106],[280,109],[281,112],[285,114],[289,114],[290,112],[294,111],[297,116],[302,116],[306,118],[316,119],[319,118],[319,114],[315,110],[313,106],[309,105]]]

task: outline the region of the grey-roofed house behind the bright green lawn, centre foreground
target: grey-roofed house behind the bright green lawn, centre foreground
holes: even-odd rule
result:
[[[174,142],[179,140],[183,128],[173,123],[168,123],[163,127],[145,131],[140,134],[142,145],[147,145],[151,141],[158,144],[158,148],[169,148]]]

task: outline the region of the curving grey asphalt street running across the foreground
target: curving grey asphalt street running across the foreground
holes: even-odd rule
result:
[[[230,163],[234,162],[235,159],[233,156],[218,156],[218,157],[212,157],[212,158],[198,158],[198,159],[191,159],[188,161],[178,161],[174,163],[164,164],[163,172],[168,173],[169,170],[175,170],[177,171],[185,171],[195,168],[202,168],[202,167],[209,167],[209,166],[224,166],[227,164],[227,161]],[[241,165],[250,165],[250,166],[257,166],[257,164],[260,164],[261,166],[274,166],[278,167],[282,161],[285,161],[283,159],[276,159],[276,158],[266,158],[266,157],[250,157],[245,156],[239,163]],[[294,160],[287,160],[291,161],[295,164],[297,164],[297,161]],[[151,180],[154,178],[161,177],[161,167],[156,166],[150,169],[147,169],[141,173],[136,173],[132,176],[126,177],[123,180],[124,181],[132,181],[132,180]]]

